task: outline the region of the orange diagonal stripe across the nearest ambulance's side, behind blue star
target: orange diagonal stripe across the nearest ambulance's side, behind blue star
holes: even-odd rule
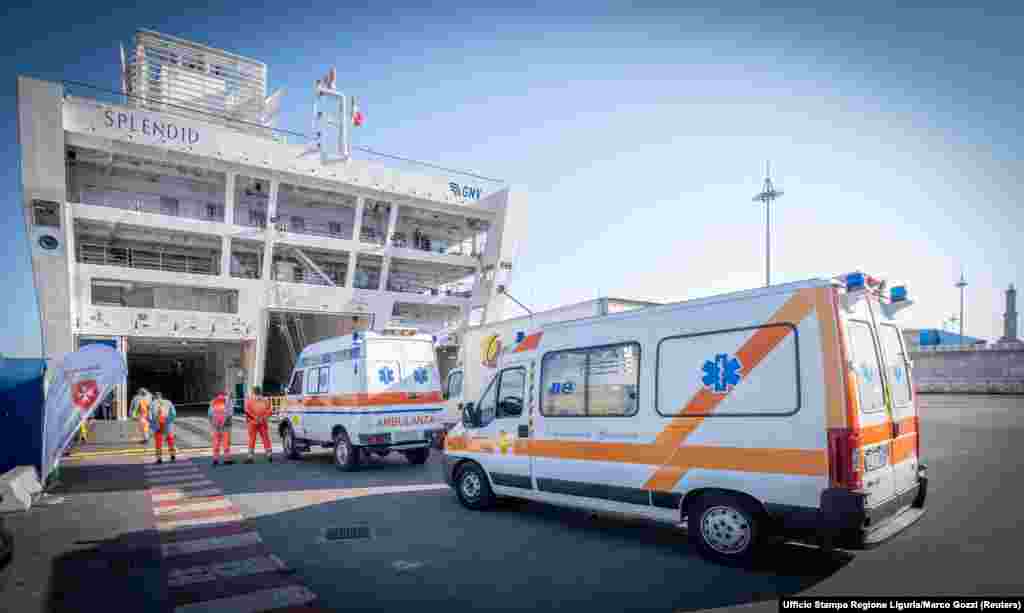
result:
[[[765,321],[764,325],[768,327],[758,329],[754,336],[743,343],[742,347],[736,351],[736,357],[742,364],[741,373],[744,379],[793,330],[787,325],[771,324],[792,323],[797,325],[811,312],[813,306],[814,290],[800,290]],[[742,385],[742,382],[739,385]],[[680,452],[680,445],[726,396],[728,393],[714,394],[707,389],[701,389],[686,403],[679,417],[672,419],[654,441],[654,444],[663,449],[665,459],[659,463],[660,468],[644,484],[644,489],[670,491],[675,487],[686,473],[686,468],[677,466],[675,462]]]

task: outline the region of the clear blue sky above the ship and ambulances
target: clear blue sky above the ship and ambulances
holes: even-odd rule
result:
[[[559,3],[60,11],[8,7],[0,54],[0,232],[12,288],[0,353],[38,354],[19,216],[15,76],[119,83],[137,28],[265,61],[284,128],[308,132],[338,65],[355,144],[508,180],[528,198],[510,289],[537,309],[598,295],[681,300],[763,283],[772,160],[773,281],[862,268],[905,282],[938,326],[969,289],[968,333],[1001,334],[1024,281],[1024,8],[768,9]],[[554,3],[552,3],[554,4]],[[830,4],[830,3],[829,3]]]

